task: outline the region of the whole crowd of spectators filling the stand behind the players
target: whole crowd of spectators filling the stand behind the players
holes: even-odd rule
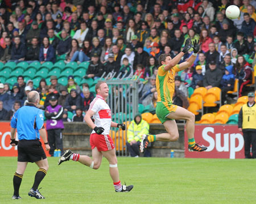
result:
[[[188,88],[214,86],[226,93],[239,80],[239,96],[251,84],[255,65],[256,1],[250,0],[177,0],[177,1],[106,1],[106,0],[29,0],[1,1],[0,60],[40,61],[41,64],[89,62],[85,78],[94,80],[102,73],[140,77],[139,102],[156,106],[155,76],[158,57],[168,53],[175,57],[186,39],[199,40],[201,52],[190,68],[175,77],[174,103],[188,106]],[[240,7],[238,19],[230,20],[225,9],[230,4]],[[192,50],[192,49],[191,49]],[[192,52],[188,52],[183,61]],[[40,108],[49,106],[52,95],[67,111],[76,113],[74,121],[82,121],[94,95],[88,84],[77,85],[73,76],[67,86],[51,77],[42,78],[39,87],[23,76],[10,88],[0,84],[0,120],[10,120],[26,95],[38,90]]]

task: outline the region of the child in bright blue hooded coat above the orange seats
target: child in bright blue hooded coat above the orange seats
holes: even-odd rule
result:
[[[225,74],[221,79],[221,102],[226,104],[226,93],[233,90],[234,88],[234,74],[233,74],[233,65],[225,67]]]

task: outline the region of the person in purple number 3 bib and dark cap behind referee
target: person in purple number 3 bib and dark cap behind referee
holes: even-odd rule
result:
[[[64,129],[64,124],[62,121],[63,107],[58,105],[58,99],[55,95],[49,98],[49,106],[46,107],[44,111],[44,116],[46,116],[46,130],[48,135],[48,142],[51,149],[49,154],[53,156],[55,149],[60,149],[63,153],[63,137],[62,131]]]

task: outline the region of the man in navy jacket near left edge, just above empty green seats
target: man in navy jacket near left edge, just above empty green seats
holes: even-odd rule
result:
[[[14,45],[11,48],[11,60],[15,63],[23,61],[25,59],[26,47],[23,43],[20,42],[19,36],[14,38]]]

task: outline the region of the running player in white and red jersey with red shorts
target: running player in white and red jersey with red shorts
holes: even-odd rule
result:
[[[125,130],[125,124],[114,123],[111,120],[111,110],[106,103],[109,95],[109,87],[106,82],[98,82],[95,86],[96,98],[90,104],[90,108],[85,115],[85,122],[93,129],[90,135],[90,146],[92,147],[92,159],[86,155],[79,155],[67,150],[59,159],[60,165],[64,161],[72,159],[81,164],[89,166],[92,169],[100,168],[102,156],[109,161],[109,173],[113,180],[116,192],[128,192],[133,189],[133,185],[122,185],[119,180],[117,168],[117,157],[115,156],[115,147],[112,138],[109,136],[110,127],[119,127]],[[91,117],[93,116],[95,123]]]

